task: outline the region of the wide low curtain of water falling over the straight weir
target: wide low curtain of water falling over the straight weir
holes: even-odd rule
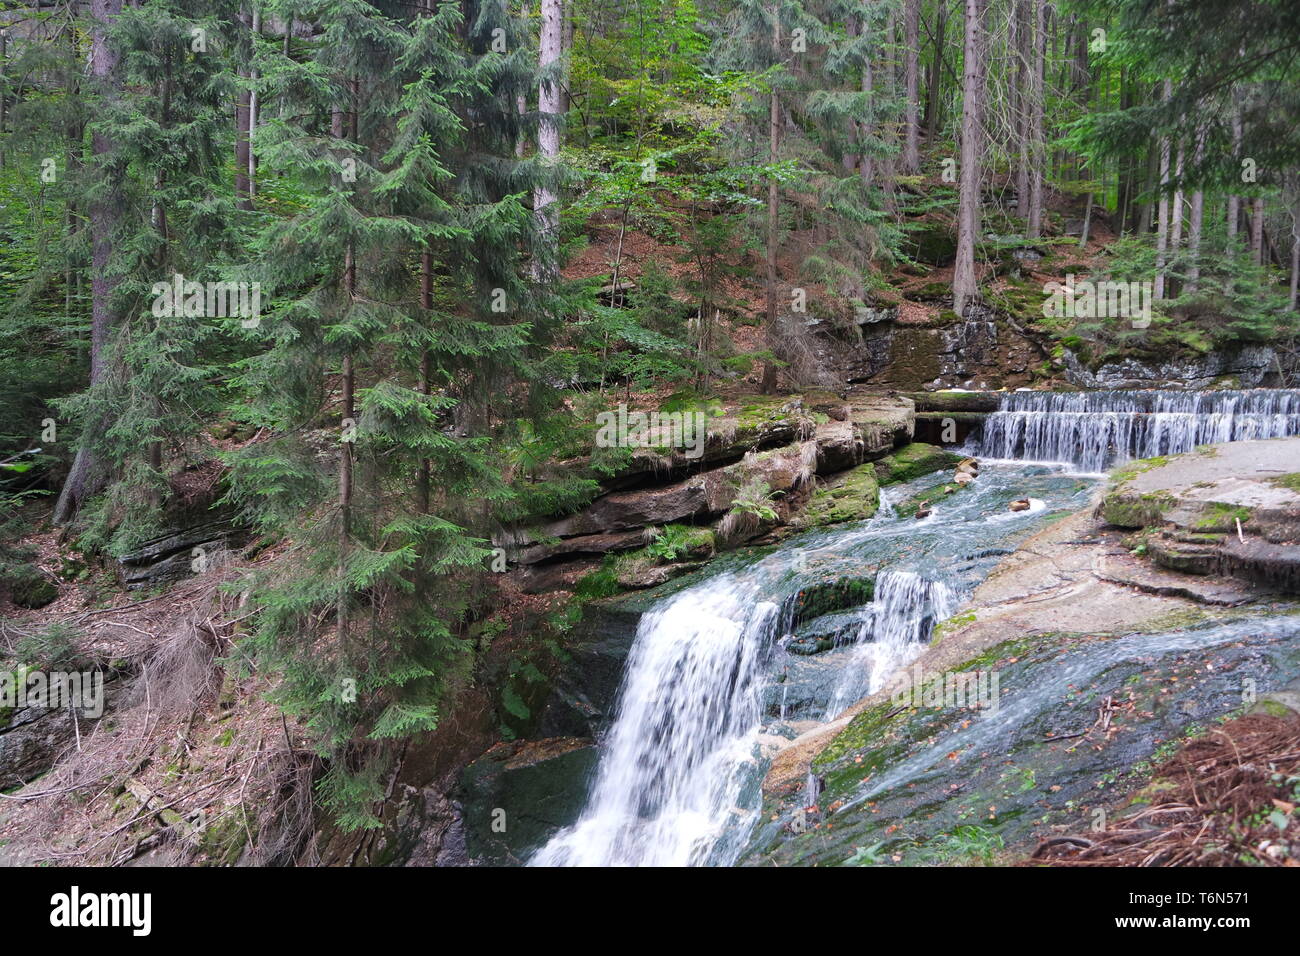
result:
[[[1300,390],[1013,392],[978,442],[985,458],[1102,471],[1197,445],[1300,434]]]

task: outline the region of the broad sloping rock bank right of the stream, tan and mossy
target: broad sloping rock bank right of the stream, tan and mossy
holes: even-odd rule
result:
[[[1213,501],[1222,477],[1242,502],[1284,510],[1269,479],[1296,460],[1287,444],[1130,463],[1109,493]],[[742,862],[1023,855],[1123,806],[1188,736],[1252,704],[1300,706],[1300,605],[1268,583],[1162,567],[1106,524],[1106,496],[1006,557],[936,628],[906,682],[896,675],[840,719],[776,744]],[[1187,502],[1162,514],[1175,507],[1201,514]]]

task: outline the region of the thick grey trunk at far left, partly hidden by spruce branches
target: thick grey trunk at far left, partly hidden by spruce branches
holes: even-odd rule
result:
[[[117,49],[108,40],[108,30],[122,13],[122,0],[91,0],[91,53],[90,74],[92,85],[105,99],[117,98]],[[116,143],[98,129],[91,137],[91,153],[95,157],[112,157]],[[113,306],[113,294],[121,276],[109,272],[109,259],[117,241],[117,228],[122,217],[122,176],[116,159],[100,160],[105,189],[90,204],[91,232],[91,334],[90,334],[90,385],[94,388],[105,376],[105,349],[117,328],[121,315]],[[86,421],[77,457],[73,459],[68,480],[55,503],[55,523],[66,524],[86,499],[103,488],[105,476],[103,466],[92,449],[92,442],[108,431],[107,414],[92,416]]]

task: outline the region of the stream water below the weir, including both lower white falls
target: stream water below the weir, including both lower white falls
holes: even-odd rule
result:
[[[1035,527],[1036,518],[1008,511],[1013,498],[1034,493],[1078,507],[1087,497],[1078,477],[1032,472],[992,466],[924,522],[885,503],[868,522],[810,533],[663,598],[641,618],[582,813],[529,862],[733,862],[758,822],[760,735],[796,736],[832,698],[842,710],[919,654],[957,596]],[[935,480],[889,489],[889,497]],[[853,643],[815,657],[788,654],[801,594],[845,576],[876,578]],[[824,617],[833,630],[845,614]]]

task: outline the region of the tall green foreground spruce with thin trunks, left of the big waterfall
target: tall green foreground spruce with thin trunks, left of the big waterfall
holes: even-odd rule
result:
[[[534,73],[494,3],[468,21],[450,3],[298,16],[321,33],[302,61],[266,61],[289,105],[255,140],[263,176],[303,189],[259,241],[272,342],[246,381],[276,438],[233,457],[231,497],[299,549],[259,585],[254,646],[330,761],[326,805],[364,827],[384,741],[437,726],[464,674],[459,631],[510,506],[497,395],[526,394],[546,329],[523,202],[540,164],[515,155]]]

